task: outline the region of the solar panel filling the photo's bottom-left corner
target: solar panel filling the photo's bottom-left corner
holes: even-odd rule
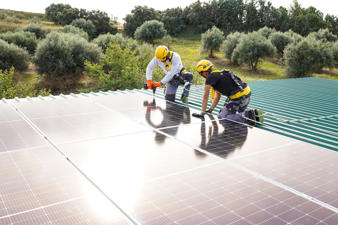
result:
[[[130,224],[52,147],[0,154],[0,161],[1,225]]]

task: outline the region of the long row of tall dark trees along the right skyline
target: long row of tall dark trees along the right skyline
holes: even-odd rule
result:
[[[319,29],[329,29],[338,34],[337,16],[327,14],[325,17],[320,10],[310,6],[301,7],[297,0],[293,0],[289,9],[280,6],[273,7],[265,0],[212,0],[200,2],[197,0],[185,8],[167,8],[155,10],[148,6],[134,6],[125,18],[124,29],[129,36],[145,21],[158,20],[170,35],[177,35],[185,25],[195,25],[195,33],[201,34],[213,26],[228,31],[252,32],[260,28],[275,28],[286,32],[289,29],[307,36]]]

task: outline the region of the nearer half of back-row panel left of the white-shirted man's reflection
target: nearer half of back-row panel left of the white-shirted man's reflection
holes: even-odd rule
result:
[[[88,100],[87,100],[88,101]],[[55,144],[149,130],[111,111],[31,119]],[[132,129],[130,129],[132,128]]]

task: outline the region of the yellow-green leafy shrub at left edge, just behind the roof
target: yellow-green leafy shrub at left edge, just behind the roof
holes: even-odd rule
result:
[[[20,82],[17,84],[13,83],[14,67],[11,67],[9,71],[6,69],[4,72],[0,69],[0,99],[14,99],[29,97],[36,97],[38,95],[48,96],[50,90],[35,90],[33,84],[23,85]],[[37,93],[38,92],[38,93]]]

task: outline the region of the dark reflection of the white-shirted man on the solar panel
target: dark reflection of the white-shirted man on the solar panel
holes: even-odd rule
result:
[[[166,101],[166,106],[163,109],[156,106],[155,99],[152,102],[144,101],[143,105],[147,107],[145,114],[147,123],[155,129],[163,128],[161,131],[169,135],[176,136],[178,125],[191,122],[189,107]],[[156,110],[159,110],[161,114],[155,114]],[[162,145],[166,138],[167,136],[156,132],[156,143]]]

